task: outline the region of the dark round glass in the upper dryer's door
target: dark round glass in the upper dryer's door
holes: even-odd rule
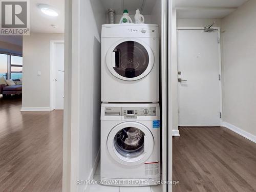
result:
[[[113,68],[122,77],[138,77],[147,69],[148,53],[138,42],[124,41],[113,52],[115,53]]]

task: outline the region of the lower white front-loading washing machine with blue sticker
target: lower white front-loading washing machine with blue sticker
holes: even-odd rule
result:
[[[100,152],[102,184],[159,184],[159,104],[102,103]]]

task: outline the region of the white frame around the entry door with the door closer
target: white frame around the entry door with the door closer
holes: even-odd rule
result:
[[[220,31],[220,27],[212,27],[212,29],[217,30],[217,34],[218,34],[218,54],[219,54],[219,74],[220,74],[220,80],[219,80],[219,99],[220,99],[220,113],[221,113],[221,118],[220,118],[220,126],[222,126],[222,122],[223,122],[223,108],[222,108],[222,64],[221,64],[221,31]],[[203,27],[177,27],[177,31],[178,30],[204,30]],[[177,47],[178,47],[178,35],[177,35]],[[178,56],[178,54],[177,54]],[[178,69],[178,58],[177,58],[177,69]],[[177,71],[178,73],[178,71]],[[178,81],[177,81],[178,83]],[[178,87],[177,87],[178,88]],[[178,93],[178,89],[177,89],[177,93]],[[178,95],[178,99],[179,99],[179,95]],[[178,110],[179,110],[179,106],[178,106]],[[179,118],[179,115],[178,115]],[[179,120],[178,120],[179,122]]]

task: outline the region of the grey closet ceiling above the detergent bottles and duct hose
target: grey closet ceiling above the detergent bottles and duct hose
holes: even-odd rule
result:
[[[135,14],[136,9],[141,14],[150,15],[156,4],[156,0],[100,0],[106,12],[112,8],[116,14],[123,14],[123,9],[127,9],[129,14]]]

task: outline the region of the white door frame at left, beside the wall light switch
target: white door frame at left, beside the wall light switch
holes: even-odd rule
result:
[[[54,95],[55,90],[54,88],[54,84],[53,84],[53,70],[54,70],[54,62],[53,62],[53,46],[54,44],[65,44],[64,40],[50,40],[50,111],[54,110],[54,106],[56,103],[54,103]]]

